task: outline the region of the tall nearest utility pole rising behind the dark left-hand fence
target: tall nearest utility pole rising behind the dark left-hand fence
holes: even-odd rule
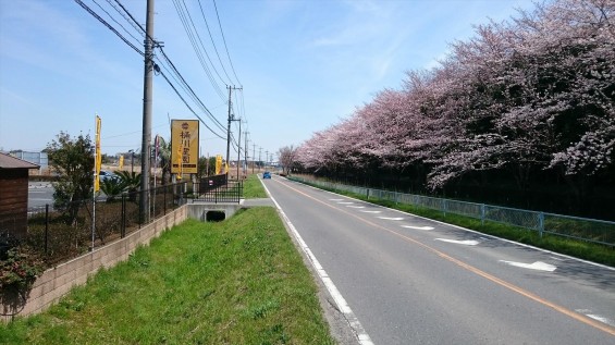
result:
[[[151,102],[153,84],[153,0],[147,0],[147,19],[145,22],[145,72],[143,83],[143,140],[140,160],[140,200],[139,213],[143,222],[149,222],[149,155],[151,141]]]

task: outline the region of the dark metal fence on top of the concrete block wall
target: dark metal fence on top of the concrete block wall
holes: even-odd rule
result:
[[[90,199],[30,208],[23,238],[14,238],[16,232],[10,221],[0,224],[0,250],[19,241],[40,254],[47,266],[52,266],[123,238],[147,220],[151,222],[167,214],[185,204],[185,189],[182,183],[146,190],[149,214],[140,212],[142,193],[138,190],[113,198],[101,197],[96,204]],[[17,217],[21,214],[15,214]]]

